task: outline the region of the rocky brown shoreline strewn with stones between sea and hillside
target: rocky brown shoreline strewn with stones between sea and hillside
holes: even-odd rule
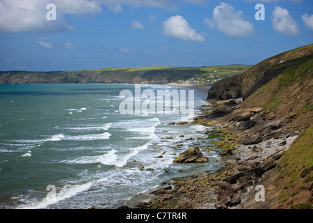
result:
[[[216,105],[215,102],[209,103],[209,105],[213,108],[218,107],[218,104]],[[254,110],[250,108],[250,112],[252,112],[255,118],[262,117],[261,111],[262,109],[259,108]],[[245,112],[246,110],[243,109],[236,116],[242,116]],[[214,126],[226,136],[223,139],[224,142],[235,144],[233,148],[225,148],[224,151],[226,153],[219,153],[220,160],[218,162],[223,164],[223,167],[213,174],[193,174],[182,178],[173,178],[169,182],[162,183],[158,190],[145,194],[149,201],[133,203],[132,206],[127,206],[129,205],[127,204],[120,208],[270,208],[275,198],[271,198],[267,202],[257,201],[255,199],[256,185],[266,185],[268,183],[264,182],[264,179],[271,178],[275,174],[272,169],[276,167],[278,160],[289,149],[294,139],[298,137],[298,134],[287,132],[275,135],[275,131],[272,131],[273,135],[271,137],[242,144],[236,141],[236,139],[246,137],[247,133],[243,130],[235,130],[236,125],[234,122],[230,124],[229,120],[223,116],[221,118],[208,118],[205,115],[197,116],[194,118],[193,123]],[[260,123],[260,125],[268,125],[266,120],[262,120]],[[283,128],[283,126],[282,124],[280,128]],[[249,135],[247,136],[250,137]]]

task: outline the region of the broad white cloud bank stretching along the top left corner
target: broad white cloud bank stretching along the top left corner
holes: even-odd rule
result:
[[[48,3],[56,5],[56,21],[46,19]],[[134,7],[175,8],[170,0],[0,0],[0,31],[66,31],[74,29],[65,22],[67,14],[96,14],[102,12],[102,6],[119,13],[123,4]]]

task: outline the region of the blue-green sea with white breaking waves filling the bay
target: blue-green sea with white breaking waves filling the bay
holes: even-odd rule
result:
[[[1,84],[0,208],[113,209],[147,201],[172,178],[220,168],[217,151],[202,151],[206,163],[172,162],[208,143],[210,127],[190,123],[206,94],[145,84],[141,92],[156,95],[194,91],[194,114],[121,114],[123,90],[135,94],[136,85]],[[168,125],[180,121],[188,124]]]

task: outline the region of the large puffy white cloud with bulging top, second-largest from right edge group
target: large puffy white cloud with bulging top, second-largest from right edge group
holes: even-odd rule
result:
[[[235,12],[232,5],[223,2],[214,8],[213,18],[205,17],[204,22],[211,28],[234,37],[246,37],[254,30],[253,24],[243,20],[243,13],[240,10]]]

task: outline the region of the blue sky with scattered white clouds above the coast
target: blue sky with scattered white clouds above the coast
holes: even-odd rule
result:
[[[0,70],[254,65],[312,43],[312,0],[0,0]]]

